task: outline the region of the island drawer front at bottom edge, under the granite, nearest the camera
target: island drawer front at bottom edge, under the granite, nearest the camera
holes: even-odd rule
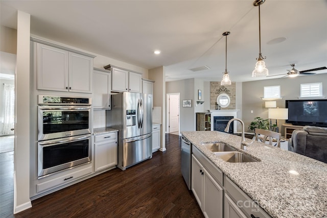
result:
[[[255,217],[261,218],[271,217],[226,176],[224,176],[224,188],[229,193],[229,196],[233,199],[233,201],[237,203],[238,208],[243,210],[248,217],[250,217],[252,214]]]

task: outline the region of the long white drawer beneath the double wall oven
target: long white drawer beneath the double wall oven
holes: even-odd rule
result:
[[[80,169],[79,171],[76,171],[74,173],[66,174],[64,176],[37,184],[36,192],[39,193],[50,188],[55,188],[56,186],[75,181],[76,179],[79,179],[82,176],[86,176],[91,173],[92,173],[92,166],[91,164],[89,164],[88,167]]]

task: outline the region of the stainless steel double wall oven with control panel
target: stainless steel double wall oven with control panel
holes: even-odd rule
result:
[[[91,99],[38,95],[38,178],[91,161]]]

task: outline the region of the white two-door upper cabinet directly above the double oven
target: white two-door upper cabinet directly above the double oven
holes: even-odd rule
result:
[[[92,92],[93,58],[37,43],[37,89]]]

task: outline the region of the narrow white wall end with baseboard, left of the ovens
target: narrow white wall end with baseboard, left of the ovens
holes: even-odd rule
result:
[[[32,207],[30,200],[30,18],[17,13],[14,214]]]

